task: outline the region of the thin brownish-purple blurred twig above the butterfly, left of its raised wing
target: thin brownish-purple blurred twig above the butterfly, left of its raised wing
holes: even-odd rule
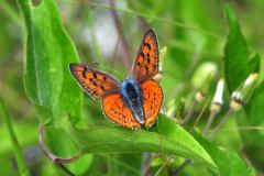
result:
[[[128,46],[128,43],[125,41],[124,34],[123,34],[123,31],[122,31],[122,26],[121,26],[121,23],[120,23],[120,20],[119,20],[119,16],[118,16],[118,14],[116,12],[114,1],[113,0],[109,0],[109,4],[111,7],[110,12],[112,14],[116,29],[117,29],[119,37],[120,37],[121,52],[122,52],[122,55],[123,55],[123,64],[124,64],[127,70],[130,70],[131,63],[130,63],[130,55],[129,55],[129,46]]]

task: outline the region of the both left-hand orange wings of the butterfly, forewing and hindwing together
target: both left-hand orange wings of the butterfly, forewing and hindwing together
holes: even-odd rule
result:
[[[69,69],[87,94],[96,99],[102,98],[103,112],[111,121],[129,129],[141,128],[124,105],[116,78],[81,64],[70,64]]]

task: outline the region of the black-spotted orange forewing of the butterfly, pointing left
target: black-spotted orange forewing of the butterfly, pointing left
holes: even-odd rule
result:
[[[119,91],[120,82],[106,73],[82,64],[70,64],[69,69],[82,89],[92,98],[99,99]]]

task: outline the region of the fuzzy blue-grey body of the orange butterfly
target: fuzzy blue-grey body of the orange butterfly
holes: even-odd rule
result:
[[[121,85],[121,96],[124,103],[131,109],[135,120],[143,124],[144,112],[143,112],[143,96],[139,84],[133,79],[124,79]]]

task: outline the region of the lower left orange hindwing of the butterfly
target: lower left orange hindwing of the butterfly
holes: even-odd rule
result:
[[[141,129],[131,112],[124,105],[120,94],[112,94],[102,99],[105,114],[113,122],[129,129]]]

